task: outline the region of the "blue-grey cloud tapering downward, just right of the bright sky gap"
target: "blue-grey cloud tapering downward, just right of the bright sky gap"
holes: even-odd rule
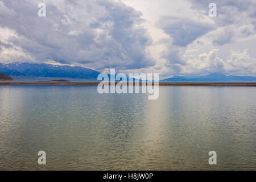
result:
[[[213,29],[209,23],[174,16],[163,16],[156,25],[170,36],[160,57],[166,60],[172,73],[179,73],[182,65],[187,64],[184,54],[188,44]]]

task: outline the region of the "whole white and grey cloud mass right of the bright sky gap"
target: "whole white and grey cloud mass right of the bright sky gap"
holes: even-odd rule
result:
[[[165,67],[170,73],[172,75],[207,73],[255,75],[255,59],[243,50],[246,50],[244,42],[250,38],[255,39],[256,2],[214,1],[217,5],[217,17],[212,18],[208,16],[208,5],[212,1],[191,0],[190,2],[192,9],[197,10],[197,13],[188,14],[187,18],[181,15],[162,16],[156,24],[170,36],[169,43],[165,44],[165,49],[160,53],[160,58],[166,61]],[[238,49],[236,46],[240,42],[242,51],[232,51]],[[224,46],[226,51],[231,52],[229,59],[226,59],[228,53],[219,51]],[[199,51],[189,53],[189,49]]]

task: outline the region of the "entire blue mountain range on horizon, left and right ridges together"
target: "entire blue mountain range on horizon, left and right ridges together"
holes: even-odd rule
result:
[[[100,72],[89,68],[71,67],[69,65],[52,64],[30,64],[30,63],[0,63],[2,78],[9,75],[16,78],[79,78],[86,80],[97,80]],[[226,76],[219,73],[212,73],[205,76],[174,76],[160,80],[162,82],[256,82],[254,76]]]

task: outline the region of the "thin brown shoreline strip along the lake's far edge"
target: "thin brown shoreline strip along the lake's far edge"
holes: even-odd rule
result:
[[[99,83],[100,82],[0,81],[0,85],[98,85]],[[117,82],[115,82],[115,84],[117,84]],[[137,82],[136,84],[139,83]],[[152,85],[154,85],[154,82]],[[256,82],[159,82],[159,86],[256,86]]]

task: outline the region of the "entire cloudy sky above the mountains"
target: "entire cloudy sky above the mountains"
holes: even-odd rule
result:
[[[0,0],[0,63],[256,76],[255,10],[255,0]]]

